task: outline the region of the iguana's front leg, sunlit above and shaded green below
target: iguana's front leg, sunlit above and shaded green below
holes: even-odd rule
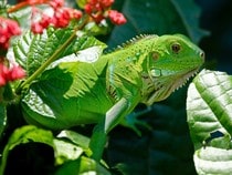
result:
[[[108,132],[120,122],[128,107],[128,101],[123,97],[106,112],[105,119],[95,126],[89,143],[89,148],[93,152],[92,158],[101,161]]]

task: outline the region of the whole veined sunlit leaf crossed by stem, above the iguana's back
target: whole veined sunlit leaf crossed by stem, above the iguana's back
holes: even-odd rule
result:
[[[65,45],[73,32],[73,29],[54,30],[52,27],[43,34],[27,32],[13,45],[14,58],[30,76],[51,56],[57,60],[70,54],[77,54],[78,51],[93,45],[102,45],[102,50],[105,48],[104,43],[82,32],[77,32],[76,38]]]

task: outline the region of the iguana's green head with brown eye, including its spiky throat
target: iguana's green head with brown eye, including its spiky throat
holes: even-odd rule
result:
[[[204,62],[204,52],[181,34],[150,38],[150,52],[143,65],[143,102],[165,100],[193,76]]]

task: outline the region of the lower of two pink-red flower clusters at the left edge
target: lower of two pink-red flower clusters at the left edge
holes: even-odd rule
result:
[[[20,65],[14,64],[9,69],[2,62],[0,62],[0,86],[6,85],[10,81],[23,79],[24,76],[25,72]]]

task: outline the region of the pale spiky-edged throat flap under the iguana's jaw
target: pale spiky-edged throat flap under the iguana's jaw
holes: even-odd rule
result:
[[[191,76],[194,76],[198,70],[199,69],[197,68],[191,71],[182,72],[176,75],[156,78],[154,80],[154,86],[156,87],[154,89],[152,93],[150,93],[145,103],[147,105],[151,105],[154,102],[167,99],[173,91],[183,86]],[[166,79],[166,81],[160,82],[159,79]]]

